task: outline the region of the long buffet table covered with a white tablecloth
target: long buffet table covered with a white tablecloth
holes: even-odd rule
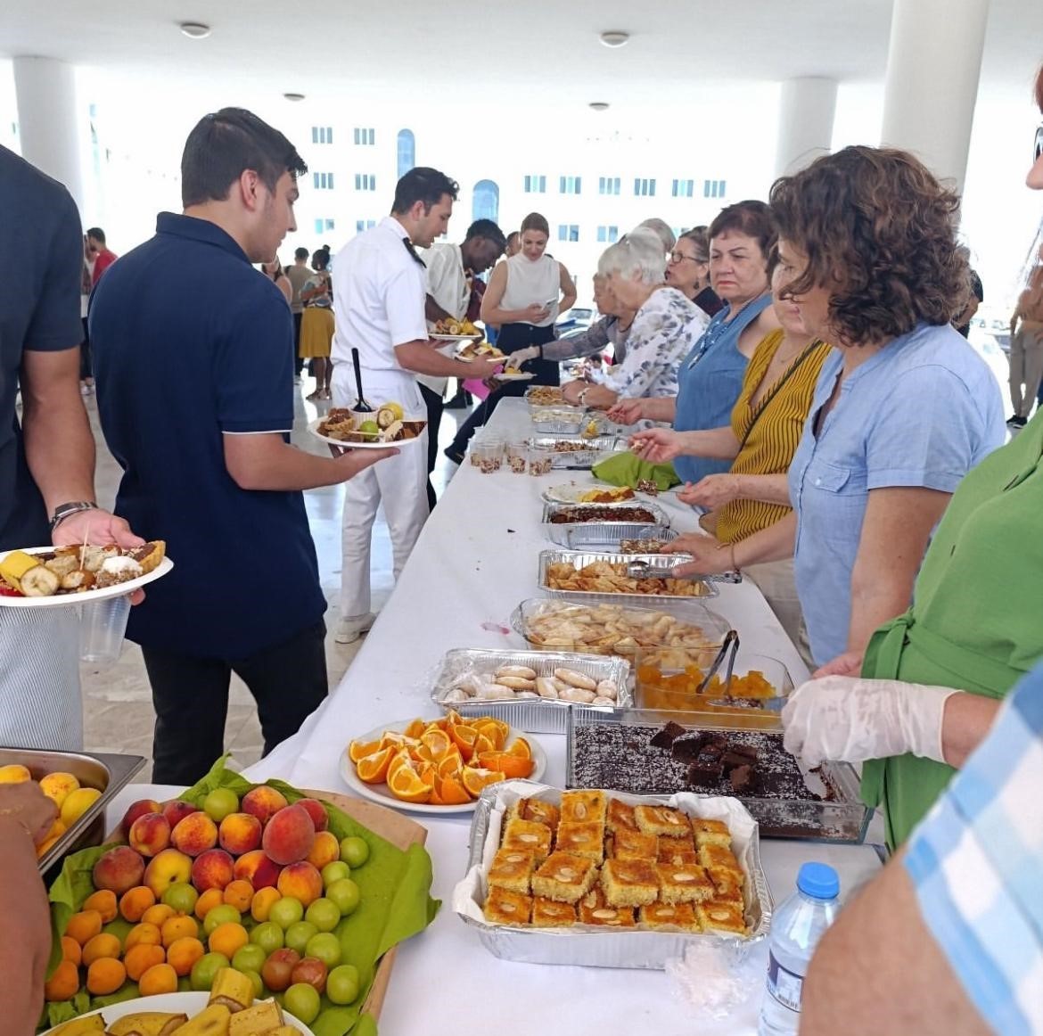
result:
[[[492,430],[511,441],[531,434],[522,400],[505,400]],[[554,472],[541,478],[504,469],[483,475],[465,463],[428,521],[395,591],[366,636],[340,685],[300,731],[246,771],[251,779],[281,777],[300,788],[345,792],[339,775],[347,742],[384,723],[438,715],[431,700],[435,668],[450,648],[520,648],[509,629],[514,607],[536,588],[540,550],[550,545],[540,528],[539,493],[545,486],[589,480],[586,473]],[[696,528],[695,516],[673,495],[658,503],[680,530]],[[749,582],[722,585],[711,607],[739,631],[750,650],[776,657],[800,683],[806,669],[759,591]],[[292,689],[287,689],[292,693]],[[527,734],[548,755],[547,784],[563,787],[565,738]],[[144,794],[127,789],[115,803]],[[754,1033],[760,987],[720,1021],[700,1018],[672,990],[662,971],[613,972],[601,968],[517,964],[492,957],[476,933],[448,910],[468,849],[469,814],[431,817],[413,814],[428,828],[434,864],[433,895],[443,900],[434,923],[398,949],[390,994],[381,1015],[382,1036],[417,1036],[448,1031],[465,1019],[496,1036],[533,1033],[655,1032],[660,1036],[700,1032],[722,1036]],[[849,892],[879,868],[869,844],[816,845],[766,840],[761,858],[776,901],[794,888],[806,860],[831,864]],[[767,966],[767,947],[751,950],[751,967]]]

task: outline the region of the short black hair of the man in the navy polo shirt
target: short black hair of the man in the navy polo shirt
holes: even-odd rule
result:
[[[204,115],[189,134],[181,154],[181,203],[223,201],[232,185],[253,170],[269,191],[283,173],[308,172],[305,160],[277,130],[242,107]]]

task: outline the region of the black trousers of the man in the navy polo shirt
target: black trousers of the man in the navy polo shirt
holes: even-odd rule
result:
[[[152,780],[194,785],[224,752],[228,684],[236,673],[258,703],[264,754],[296,733],[330,692],[325,623],[247,658],[196,658],[143,648],[152,684]]]

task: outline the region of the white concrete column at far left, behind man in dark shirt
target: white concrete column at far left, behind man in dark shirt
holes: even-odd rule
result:
[[[15,94],[22,158],[65,184],[82,212],[75,70],[52,57],[16,57]]]

